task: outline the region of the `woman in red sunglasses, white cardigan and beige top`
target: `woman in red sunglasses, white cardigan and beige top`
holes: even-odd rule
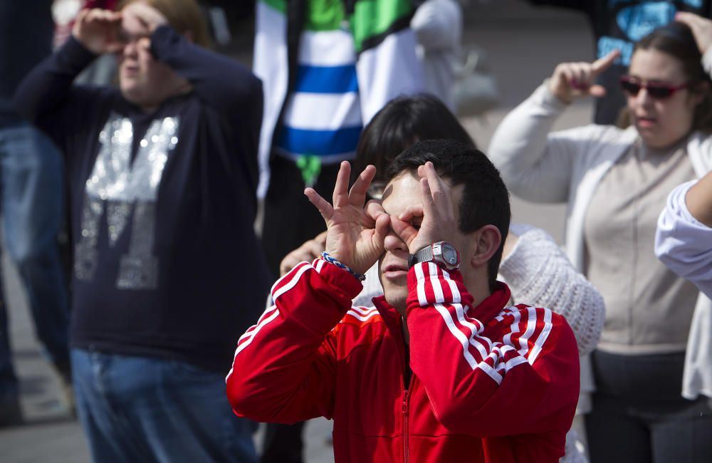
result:
[[[567,254],[604,296],[606,323],[592,355],[596,391],[586,418],[593,463],[708,462],[712,454],[712,410],[702,395],[710,389],[697,383],[681,391],[684,368],[694,368],[685,363],[693,311],[712,303],[653,252],[667,194],[712,170],[705,71],[712,69],[712,51],[703,40],[712,35],[712,21],[677,19],[634,48],[621,80],[627,128],[551,132],[574,98],[604,94],[593,82],[619,56],[613,52],[557,66],[503,120],[489,148],[512,192],[568,202]]]

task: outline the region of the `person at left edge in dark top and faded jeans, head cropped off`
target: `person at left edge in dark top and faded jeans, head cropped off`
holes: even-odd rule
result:
[[[0,213],[4,246],[27,291],[35,333],[73,412],[69,299],[57,241],[63,219],[63,162],[51,140],[12,105],[22,78],[51,53],[50,6],[49,0],[0,2]],[[23,419],[9,332],[0,291],[0,427]]]

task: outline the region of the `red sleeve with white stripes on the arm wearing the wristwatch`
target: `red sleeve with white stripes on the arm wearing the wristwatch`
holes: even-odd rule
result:
[[[411,367],[445,427],[477,437],[570,427],[579,363],[574,335],[561,316],[516,306],[483,323],[473,315],[481,307],[471,307],[459,271],[431,263],[416,264],[408,286]],[[482,304],[503,303],[491,298],[508,296],[495,293]],[[493,336],[495,321],[511,326],[500,333],[503,342]]]

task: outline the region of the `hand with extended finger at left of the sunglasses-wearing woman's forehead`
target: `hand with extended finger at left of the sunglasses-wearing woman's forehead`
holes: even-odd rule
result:
[[[561,63],[554,69],[549,80],[549,90],[564,103],[584,96],[601,97],[606,94],[602,85],[594,84],[595,78],[609,68],[620,56],[614,50],[593,63]]]

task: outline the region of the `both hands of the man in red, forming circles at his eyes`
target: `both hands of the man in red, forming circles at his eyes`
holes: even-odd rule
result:
[[[454,237],[457,219],[450,188],[431,162],[418,168],[422,204],[408,207],[398,216],[387,214],[380,202],[364,204],[367,189],[376,173],[375,167],[366,167],[348,189],[350,171],[349,163],[342,162],[333,204],[314,189],[307,188],[304,193],[326,222],[325,251],[352,270],[364,274],[370,269],[384,253],[384,241],[390,233],[401,239],[411,254],[435,241],[451,241]],[[290,256],[300,250],[313,249],[312,244],[308,241]],[[315,254],[307,253],[311,258]],[[283,264],[288,263],[283,261]]]

